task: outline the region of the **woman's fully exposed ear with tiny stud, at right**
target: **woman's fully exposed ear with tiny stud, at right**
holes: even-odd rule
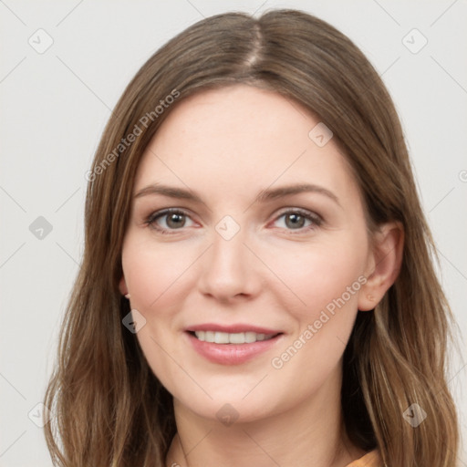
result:
[[[385,223],[374,233],[368,256],[367,283],[358,294],[358,309],[372,310],[396,281],[402,265],[404,229],[401,223]]]

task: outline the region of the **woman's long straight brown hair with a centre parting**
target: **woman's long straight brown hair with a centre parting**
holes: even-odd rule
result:
[[[368,227],[403,226],[400,275],[372,312],[358,312],[345,350],[344,420],[351,440],[378,448],[388,466],[452,467],[451,311],[400,121],[378,73],[348,37],[297,10],[206,18],[150,57],[119,99],[88,172],[84,255],[45,397],[56,414],[46,426],[54,463],[164,465],[176,431],[171,395],[122,326],[130,312],[119,293],[122,241],[140,157],[161,122],[182,99],[235,83],[274,90],[317,115],[354,171]],[[417,427],[404,417],[414,403],[427,415]]]

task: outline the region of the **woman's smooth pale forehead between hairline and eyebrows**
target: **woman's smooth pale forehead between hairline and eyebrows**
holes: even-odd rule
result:
[[[313,182],[355,195],[337,144],[331,139],[320,147],[310,138],[319,123],[273,91],[246,85],[202,91],[171,109],[143,154],[135,190],[163,182],[240,198],[271,184]]]

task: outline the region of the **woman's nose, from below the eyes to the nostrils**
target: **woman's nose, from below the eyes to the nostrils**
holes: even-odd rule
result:
[[[229,303],[259,293],[261,271],[245,240],[242,230],[230,240],[213,232],[213,244],[202,255],[199,289],[203,295]]]

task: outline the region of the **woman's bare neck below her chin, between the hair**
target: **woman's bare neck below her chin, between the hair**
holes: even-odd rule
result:
[[[348,441],[340,409],[340,384],[336,383],[328,380],[313,398],[292,409],[262,420],[239,419],[231,426],[201,417],[174,400],[178,432],[166,465],[344,467],[364,451]]]

